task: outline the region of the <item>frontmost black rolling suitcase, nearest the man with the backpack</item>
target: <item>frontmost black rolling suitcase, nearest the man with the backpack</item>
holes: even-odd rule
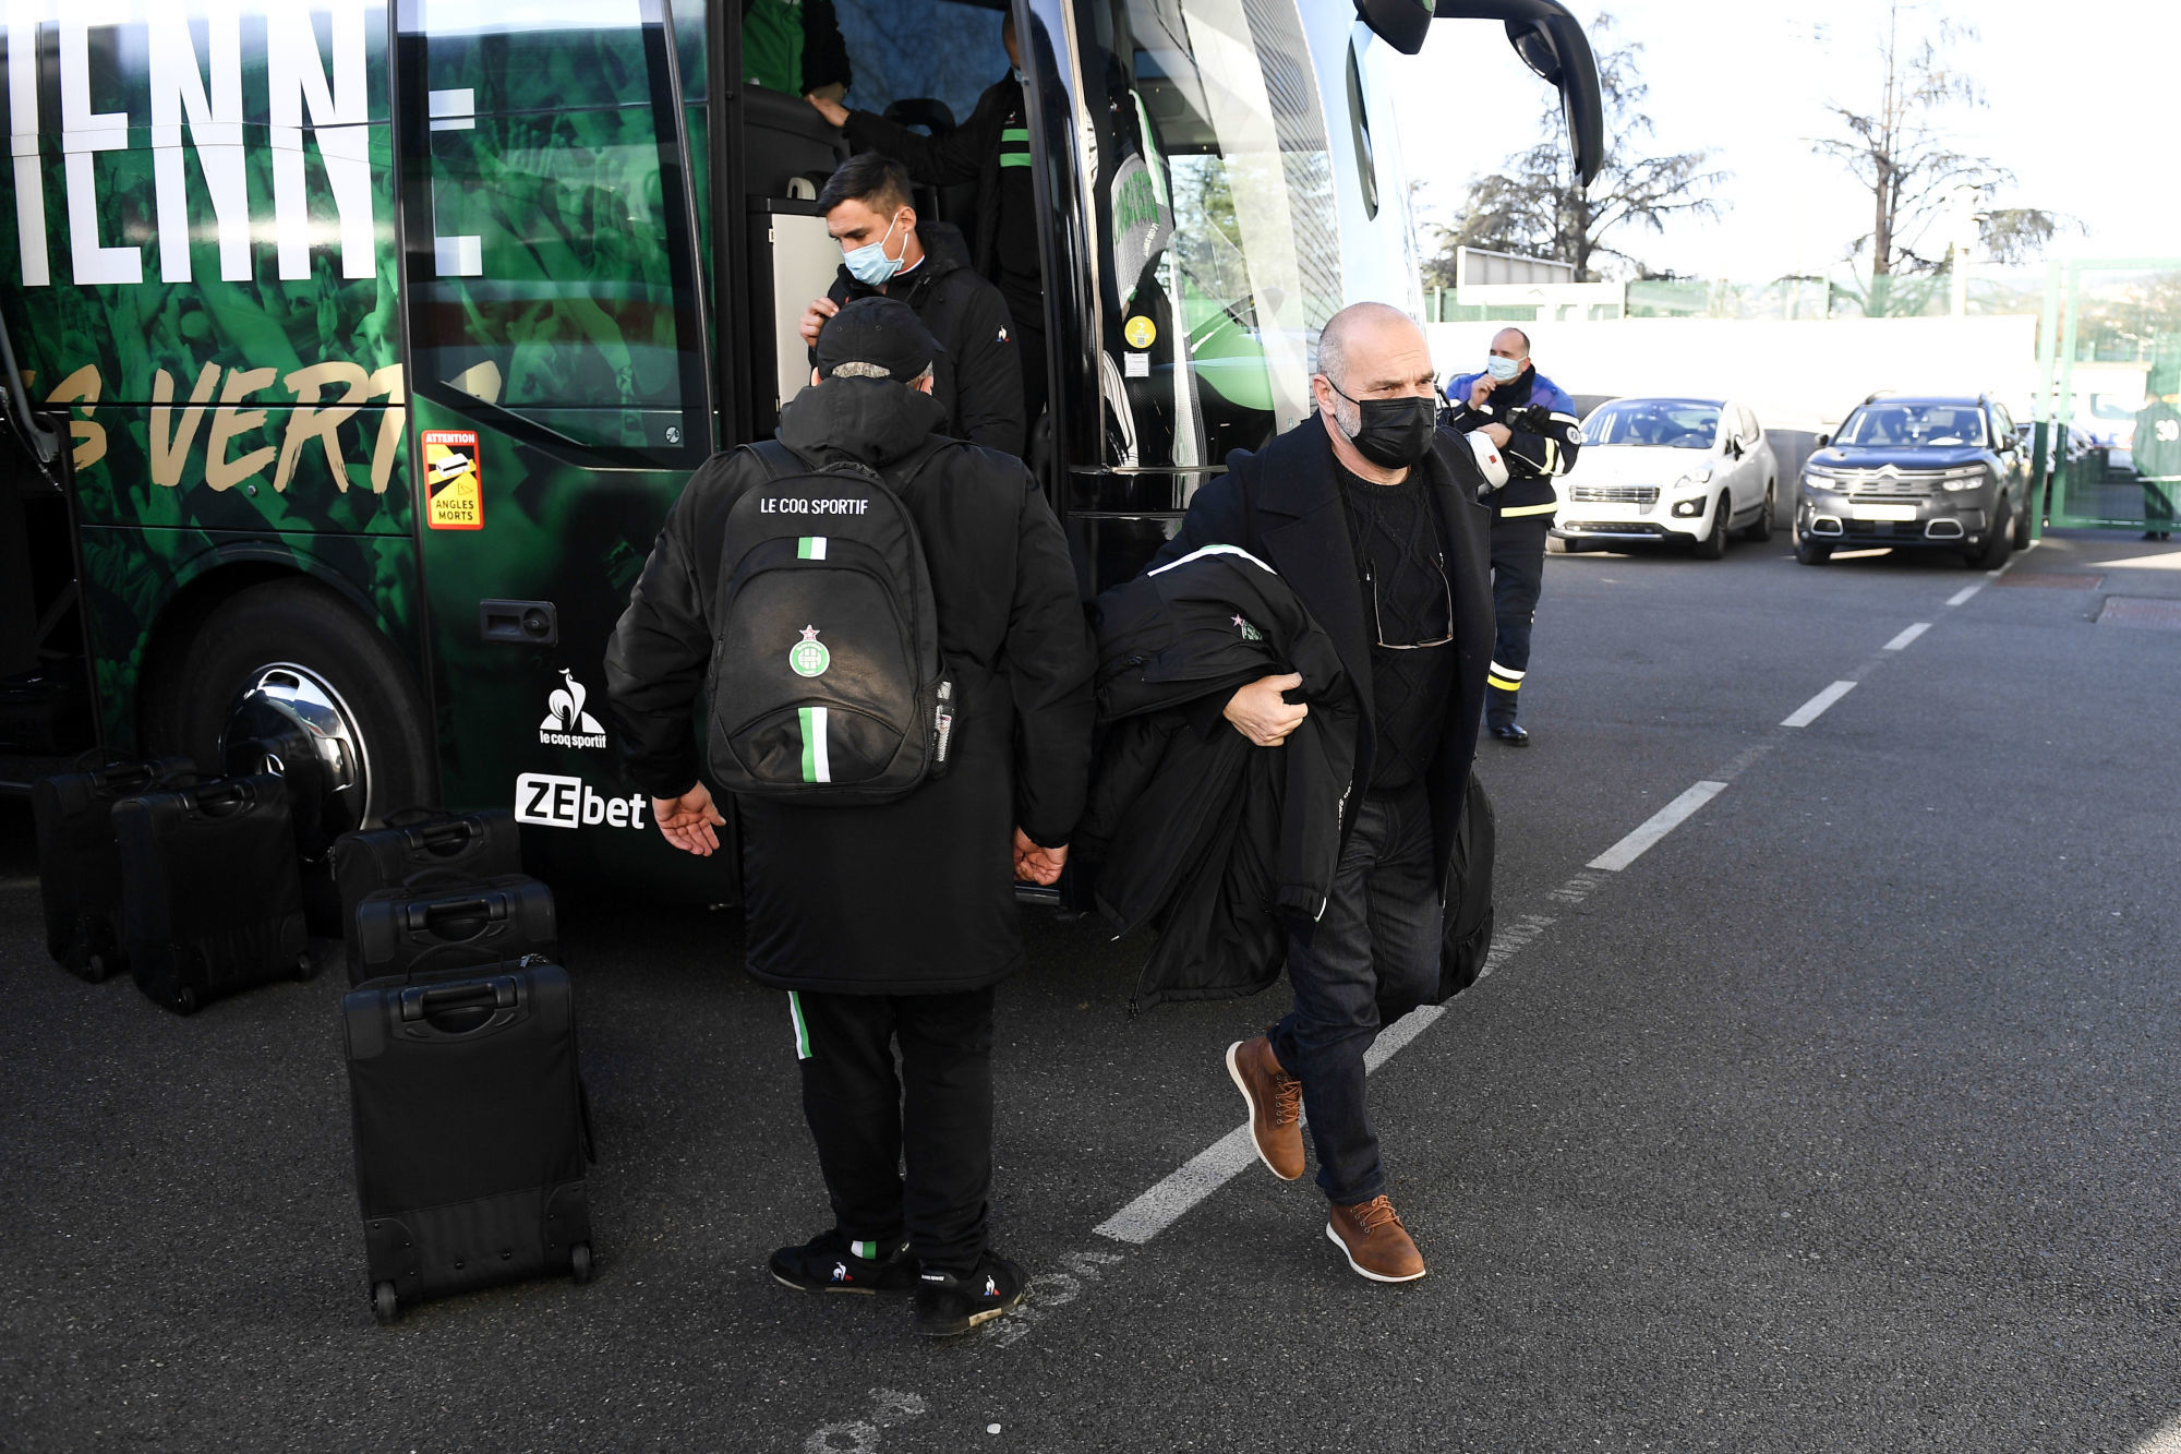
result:
[[[567,969],[373,980],[340,1002],[371,1308],[591,1279],[589,1124]]]

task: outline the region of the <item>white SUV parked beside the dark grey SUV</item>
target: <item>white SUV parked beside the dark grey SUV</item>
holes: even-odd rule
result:
[[[1679,541],[1716,561],[1734,531],[1771,539],[1780,461],[1747,404],[1614,400],[1583,419],[1583,452],[1555,489],[1555,552]]]

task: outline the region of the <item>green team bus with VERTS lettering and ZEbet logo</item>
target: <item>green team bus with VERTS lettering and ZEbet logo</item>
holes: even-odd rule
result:
[[[1010,2],[1051,378],[1029,463],[1090,592],[1309,413],[1341,303],[1420,306],[1387,87],[1433,9],[833,0],[846,105],[968,118]],[[600,655],[691,469],[807,380],[846,146],[752,72],[824,9],[0,2],[0,779],[273,742],[336,832],[508,806],[543,871],[731,897],[728,858],[650,832]],[[1437,15],[1505,22],[1588,179],[1566,9]]]

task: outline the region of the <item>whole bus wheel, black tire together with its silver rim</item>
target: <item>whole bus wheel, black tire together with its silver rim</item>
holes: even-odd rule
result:
[[[432,801],[423,701],[393,644],[310,581],[268,581],[205,618],[159,720],[207,771],[288,779],[297,836],[340,834]]]

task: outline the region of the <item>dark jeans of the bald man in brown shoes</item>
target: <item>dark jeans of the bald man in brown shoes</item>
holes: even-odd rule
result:
[[[1385,1190],[1385,1168],[1363,1107],[1363,1052],[1439,987],[1439,884],[1422,784],[1363,799],[1324,917],[1309,943],[1289,939],[1287,980],[1296,1009],[1272,1026],[1272,1052],[1302,1081],[1317,1185],[1341,1205],[1370,1201]]]

